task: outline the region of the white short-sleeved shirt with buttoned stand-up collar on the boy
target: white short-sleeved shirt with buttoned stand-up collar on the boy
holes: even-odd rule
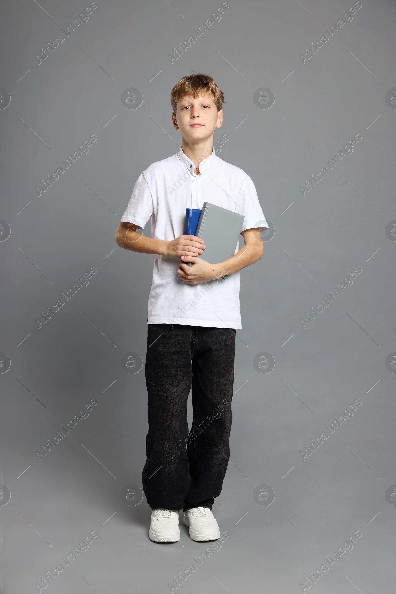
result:
[[[151,237],[171,241],[184,235],[186,208],[210,202],[243,214],[242,231],[268,229],[254,184],[242,169],[217,157],[214,150],[199,164],[199,175],[194,167],[181,147],[172,157],[148,166],[121,220],[143,229],[151,217]],[[235,252],[238,249],[237,245]],[[180,258],[154,255],[147,323],[242,328],[239,271],[226,279],[188,285],[176,273],[179,264]]]

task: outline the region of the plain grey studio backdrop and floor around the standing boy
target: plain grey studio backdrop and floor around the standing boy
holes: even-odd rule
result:
[[[396,376],[385,359],[396,351],[396,244],[385,226],[396,219],[396,110],[385,94],[396,87],[395,2],[362,0],[303,64],[300,53],[353,1],[230,0],[172,65],[167,53],[221,2],[97,4],[41,64],[35,54],[89,2],[3,7],[0,86],[11,94],[0,110],[0,219],[11,227],[0,242],[0,350],[11,359],[0,376],[0,483],[11,492],[0,506],[3,591],[37,592],[40,576],[91,530],[97,538],[53,593],[169,592],[207,546],[182,525],[178,543],[154,544],[145,499],[121,500],[124,486],[141,486],[145,459],[144,369],[127,374],[121,359],[145,359],[153,257],[114,241],[140,172],[179,150],[170,90],[201,71],[226,97],[215,141],[230,140],[219,156],[251,176],[275,236],[240,274],[231,457],[213,508],[229,538],[178,591],[301,592],[360,530],[312,587],[393,592],[396,507],[385,491],[396,483]],[[138,109],[121,103],[129,87],[142,93]],[[261,87],[275,94],[271,109],[254,105]],[[39,197],[40,180],[91,134],[88,154]],[[356,134],[353,153],[303,197],[304,180]],[[36,318],[91,266],[89,285],[39,330]],[[303,329],[299,318],[356,266],[353,285]],[[253,366],[261,352],[275,359],[270,374]],[[305,444],[356,398],[353,418],[303,461]],[[36,450],[91,399],[88,418],[39,462]],[[259,485],[274,489],[271,505],[254,500]]]

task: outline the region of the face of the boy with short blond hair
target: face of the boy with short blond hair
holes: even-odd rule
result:
[[[183,97],[178,108],[172,113],[172,122],[176,130],[180,130],[182,138],[188,143],[198,144],[207,140],[215,128],[223,122],[223,110],[217,111],[216,103],[210,97]]]

